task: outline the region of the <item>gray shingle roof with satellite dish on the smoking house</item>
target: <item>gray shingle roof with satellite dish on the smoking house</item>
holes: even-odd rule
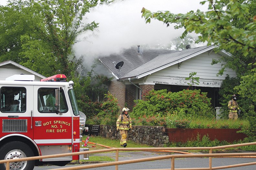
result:
[[[178,60],[192,56],[209,47],[212,46],[190,48],[183,51],[143,48],[141,52],[142,55],[137,55],[137,48],[130,48],[121,54],[112,54],[99,58],[103,64],[116,75],[116,77],[125,79],[136,77],[148,71],[154,71],[165,65],[171,65]],[[116,61],[116,63],[119,61],[124,62],[119,75],[118,70],[112,64],[113,61]]]

